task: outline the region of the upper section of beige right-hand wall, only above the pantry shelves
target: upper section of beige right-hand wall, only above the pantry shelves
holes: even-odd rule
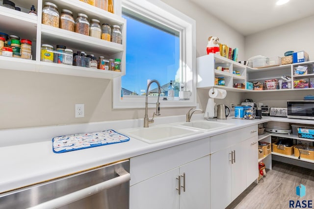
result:
[[[245,59],[256,55],[283,57],[286,51],[306,51],[314,59],[314,16],[245,37]]]

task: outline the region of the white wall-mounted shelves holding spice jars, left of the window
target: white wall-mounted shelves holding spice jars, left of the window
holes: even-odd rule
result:
[[[85,36],[72,31],[63,30],[42,24],[42,8],[45,2],[52,2],[58,6],[58,12],[62,9],[71,10],[76,19],[78,13],[84,13],[88,20],[98,19],[101,23],[120,25],[122,32],[122,44],[116,44],[102,39]],[[84,3],[80,0],[15,0],[16,6],[22,11],[16,11],[0,6],[0,32],[9,35],[20,36],[21,39],[32,41],[32,59],[0,56],[1,69],[24,70],[82,77],[112,79],[125,75],[126,68],[126,20],[121,17],[121,0],[114,0],[115,14]],[[31,5],[35,5],[37,17],[27,14]],[[109,70],[96,70],[78,66],[62,65],[56,63],[41,62],[41,45],[52,46],[65,45],[76,51],[85,51],[96,57],[105,56],[108,59],[121,59],[121,72]]]

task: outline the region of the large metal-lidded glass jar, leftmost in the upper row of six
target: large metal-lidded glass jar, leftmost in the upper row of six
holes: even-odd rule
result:
[[[59,27],[59,12],[57,5],[51,2],[45,2],[42,23],[53,27]]]

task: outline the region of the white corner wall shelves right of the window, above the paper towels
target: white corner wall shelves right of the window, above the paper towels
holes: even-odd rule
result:
[[[294,75],[294,67],[297,66],[308,66],[313,69],[314,61],[294,63],[289,65],[272,66],[268,68],[254,69],[244,65],[241,65],[233,60],[221,57],[218,54],[209,54],[197,58],[197,73],[198,73],[198,84],[197,88],[209,89],[211,87],[218,87],[232,92],[277,92],[277,91],[291,91],[291,90],[313,90],[314,88],[308,89],[295,89],[293,87],[293,81],[296,79],[310,79],[314,78],[314,73],[307,75]],[[229,68],[229,72],[217,70],[217,67]],[[308,68],[308,69],[309,69]],[[233,70],[237,70],[241,75],[233,74]],[[247,89],[234,88],[235,83],[264,82],[268,79],[280,79],[282,75],[291,76],[291,89],[280,89],[280,90],[262,90],[254,91]],[[225,86],[215,85],[215,78],[224,77]]]

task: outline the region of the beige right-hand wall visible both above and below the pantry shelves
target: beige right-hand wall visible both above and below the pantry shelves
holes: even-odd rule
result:
[[[283,57],[286,51],[293,50],[306,51],[310,60],[314,60],[313,25],[314,16],[311,16],[246,36],[245,59],[256,55]],[[286,107],[287,100],[302,100],[308,94],[314,94],[313,90],[245,93],[243,96],[244,98],[252,98],[257,103],[262,102],[270,107]]]

